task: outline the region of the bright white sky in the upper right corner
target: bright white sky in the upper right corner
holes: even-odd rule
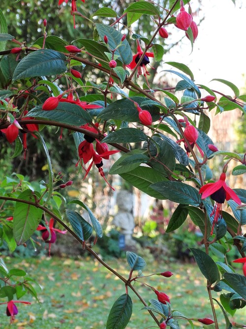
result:
[[[239,88],[246,88],[246,1],[236,0],[236,6],[232,0],[202,2],[201,13],[205,19],[198,26],[193,52],[185,37],[184,46],[175,47],[163,59],[186,64],[194,73],[195,83],[212,89],[222,88],[223,92],[231,93],[227,86],[210,82],[213,78],[229,80]],[[199,22],[198,17],[193,19]],[[182,33],[180,31],[180,37]]]

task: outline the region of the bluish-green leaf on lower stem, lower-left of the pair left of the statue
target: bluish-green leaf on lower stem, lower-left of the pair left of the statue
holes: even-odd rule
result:
[[[88,240],[92,235],[92,226],[73,210],[66,209],[66,216],[80,240]]]

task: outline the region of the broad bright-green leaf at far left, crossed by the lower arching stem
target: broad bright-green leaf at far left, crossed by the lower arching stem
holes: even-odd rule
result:
[[[18,199],[35,203],[35,198],[30,189],[26,189],[18,196]],[[27,203],[16,202],[13,219],[13,233],[17,245],[26,242],[37,228],[42,219],[42,209]]]

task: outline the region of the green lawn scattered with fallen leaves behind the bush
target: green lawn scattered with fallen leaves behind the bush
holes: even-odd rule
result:
[[[100,263],[91,258],[81,260],[62,258],[8,258],[9,268],[23,268],[42,286],[38,292],[40,303],[30,295],[22,300],[31,301],[31,305],[19,304],[19,314],[11,329],[104,329],[107,316],[114,301],[125,292],[123,283],[108,272]],[[129,267],[126,259],[111,260],[110,266],[128,277]],[[170,296],[172,308],[190,318],[213,318],[206,292],[205,278],[193,264],[147,264],[145,275],[153,272],[171,270],[171,278],[151,276],[141,281],[154,286],[158,291]],[[154,292],[141,283],[136,289],[146,301],[155,298]],[[133,312],[126,329],[145,329],[157,326],[133,292],[129,292],[133,302]],[[215,298],[218,296],[215,293]],[[4,300],[5,301],[5,300]],[[218,305],[220,328],[225,322]],[[0,305],[0,329],[9,329],[9,318],[3,316],[5,305]],[[245,311],[236,312],[238,323],[244,323]],[[195,328],[202,328],[194,322]],[[188,322],[180,321],[181,328],[190,328]],[[205,326],[206,327],[206,326]]]

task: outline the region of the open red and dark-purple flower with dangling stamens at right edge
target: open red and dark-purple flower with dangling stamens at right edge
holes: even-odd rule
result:
[[[211,199],[215,201],[215,207],[210,215],[215,215],[211,234],[213,234],[213,230],[218,219],[222,218],[222,204],[225,200],[228,201],[233,199],[237,204],[241,204],[241,200],[237,194],[228,185],[226,185],[225,178],[225,173],[222,173],[217,182],[203,185],[199,190],[199,193],[202,194],[202,199],[210,196]]]

